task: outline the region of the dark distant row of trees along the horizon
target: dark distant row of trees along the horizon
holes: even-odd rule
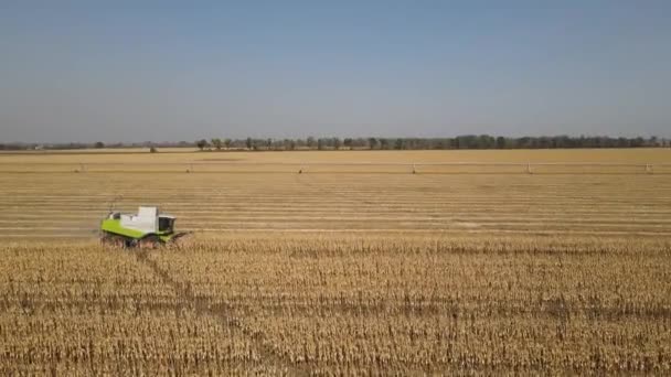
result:
[[[642,148],[671,147],[670,139],[613,138],[613,137],[502,137],[489,134],[466,134],[454,138],[298,138],[298,139],[201,139],[193,142],[113,143],[1,143],[0,150],[57,150],[88,148],[174,148],[191,147],[200,150],[460,150],[460,149],[564,149],[564,148]]]

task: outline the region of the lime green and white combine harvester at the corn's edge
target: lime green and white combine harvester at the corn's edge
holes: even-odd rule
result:
[[[188,235],[174,231],[175,217],[162,215],[158,207],[140,207],[137,214],[110,211],[100,223],[100,243],[124,248],[157,248]]]

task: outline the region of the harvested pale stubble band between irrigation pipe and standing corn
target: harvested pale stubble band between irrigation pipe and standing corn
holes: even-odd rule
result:
[[[0,174],[0,236],[90,238],[109,202],[200,233],[671,236],[671,175]]]

